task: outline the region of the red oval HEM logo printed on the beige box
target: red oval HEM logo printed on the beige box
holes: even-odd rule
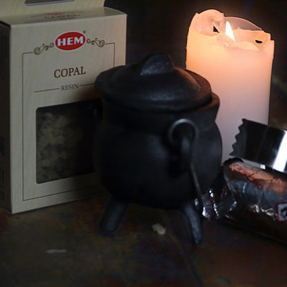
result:
[[[86,36],[81,32],[65,32],[55,39],[55,46],[60,50],[77,50],[86,42]]]

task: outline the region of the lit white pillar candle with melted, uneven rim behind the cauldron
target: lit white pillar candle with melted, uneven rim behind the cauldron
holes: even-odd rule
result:
[[[230,22],[234,40],[226,35]],[[274,41],[250,21],[217,10],[196,13],[190,23],[186,68],[205,77],[219,96],[216,123],[222,160],[230,157],[241,119],[268,123]]]

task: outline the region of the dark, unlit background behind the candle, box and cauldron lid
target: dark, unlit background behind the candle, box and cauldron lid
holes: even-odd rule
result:
[[[287,0],[106,0],[105,6],[128,14],[126,63],[166,52],[184,68],[190,21],[195,12],[208,9],[244,17],[269,32],[275,40],[270,112],[279,107],[287,128]]]

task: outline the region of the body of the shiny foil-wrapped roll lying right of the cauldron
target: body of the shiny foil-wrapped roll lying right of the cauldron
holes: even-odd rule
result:
[[[236,159],[223,168],[236,202],[225,215],[228,221],[287,243],[287,175]]]

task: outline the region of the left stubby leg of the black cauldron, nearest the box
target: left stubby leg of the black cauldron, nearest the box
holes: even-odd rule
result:
[[[116,199],[115,197],[110,197],[103,211],[103,215],[101,215],[101,220],[99,221],[100,230],[107,234],[115,233],[129,207],[129,203]]]

